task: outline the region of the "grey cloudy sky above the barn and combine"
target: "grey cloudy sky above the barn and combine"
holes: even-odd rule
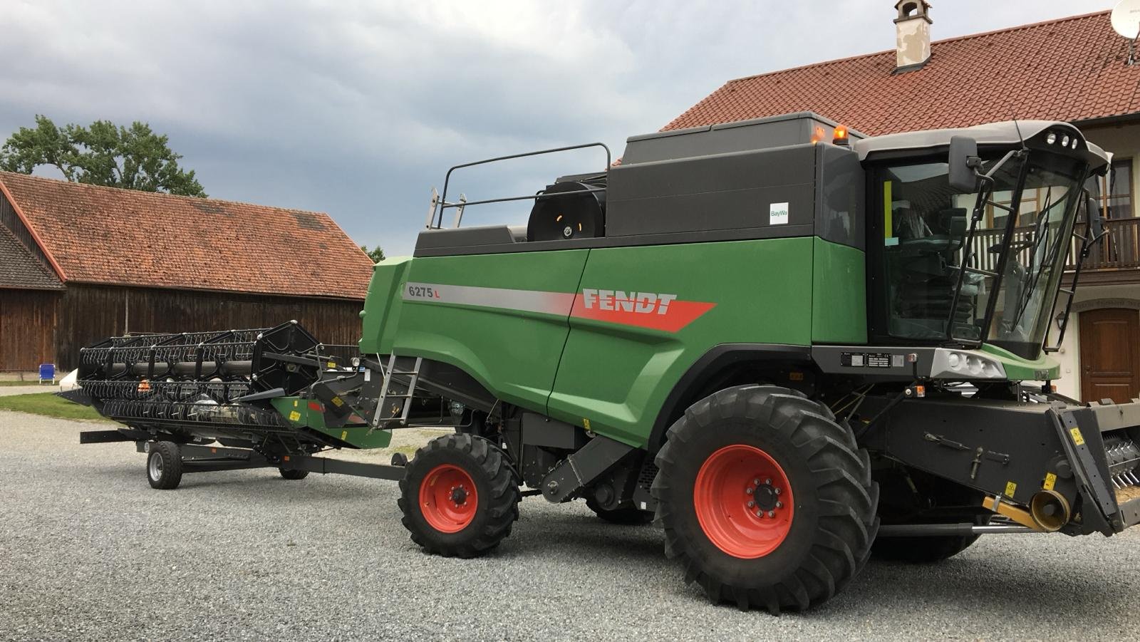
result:
[[[728,79],[893,48],[895,15],[891,0],[0,2],[0,136],[36,113],[146,121],[211,196],[325,211],[389,255],[410,253],[453,164],[595,140],[620,156]],[[942,39],[1114,0],[934,5]],[[512,162],[455,187],[530,194],[603,164]]]

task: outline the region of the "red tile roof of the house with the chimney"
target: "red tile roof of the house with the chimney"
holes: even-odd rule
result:
[[[880,51],[728,81],[665,129],[812,111],[866,135],[1140,112],[1140,65],[1101,11],[936,41],[915,71]]]

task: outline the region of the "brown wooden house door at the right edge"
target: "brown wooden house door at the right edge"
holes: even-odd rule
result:
[[[1140,314],[1081,312],[1081,397],[1125,403],[1140,395]]]

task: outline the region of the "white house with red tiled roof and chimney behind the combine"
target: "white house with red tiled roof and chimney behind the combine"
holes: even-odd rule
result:
[[[1091,186],[1108,236],[1084,265],[1058,385],[1086,400],[1137,397],[1140,52],[1114,32],[1108,11],[931,41],[929,2],[899,0],[893,16],[889,5],[883,9],[895,22],[894,49],[730,80],[663,129],[806,111],[869,136],[1017,119],[1073,122],[1114,159],[1109,179]]]

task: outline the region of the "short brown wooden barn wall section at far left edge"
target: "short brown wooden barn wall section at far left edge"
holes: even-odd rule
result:
[[[34,372],[56,361],[59,292],[0,290],[0,372]]]

